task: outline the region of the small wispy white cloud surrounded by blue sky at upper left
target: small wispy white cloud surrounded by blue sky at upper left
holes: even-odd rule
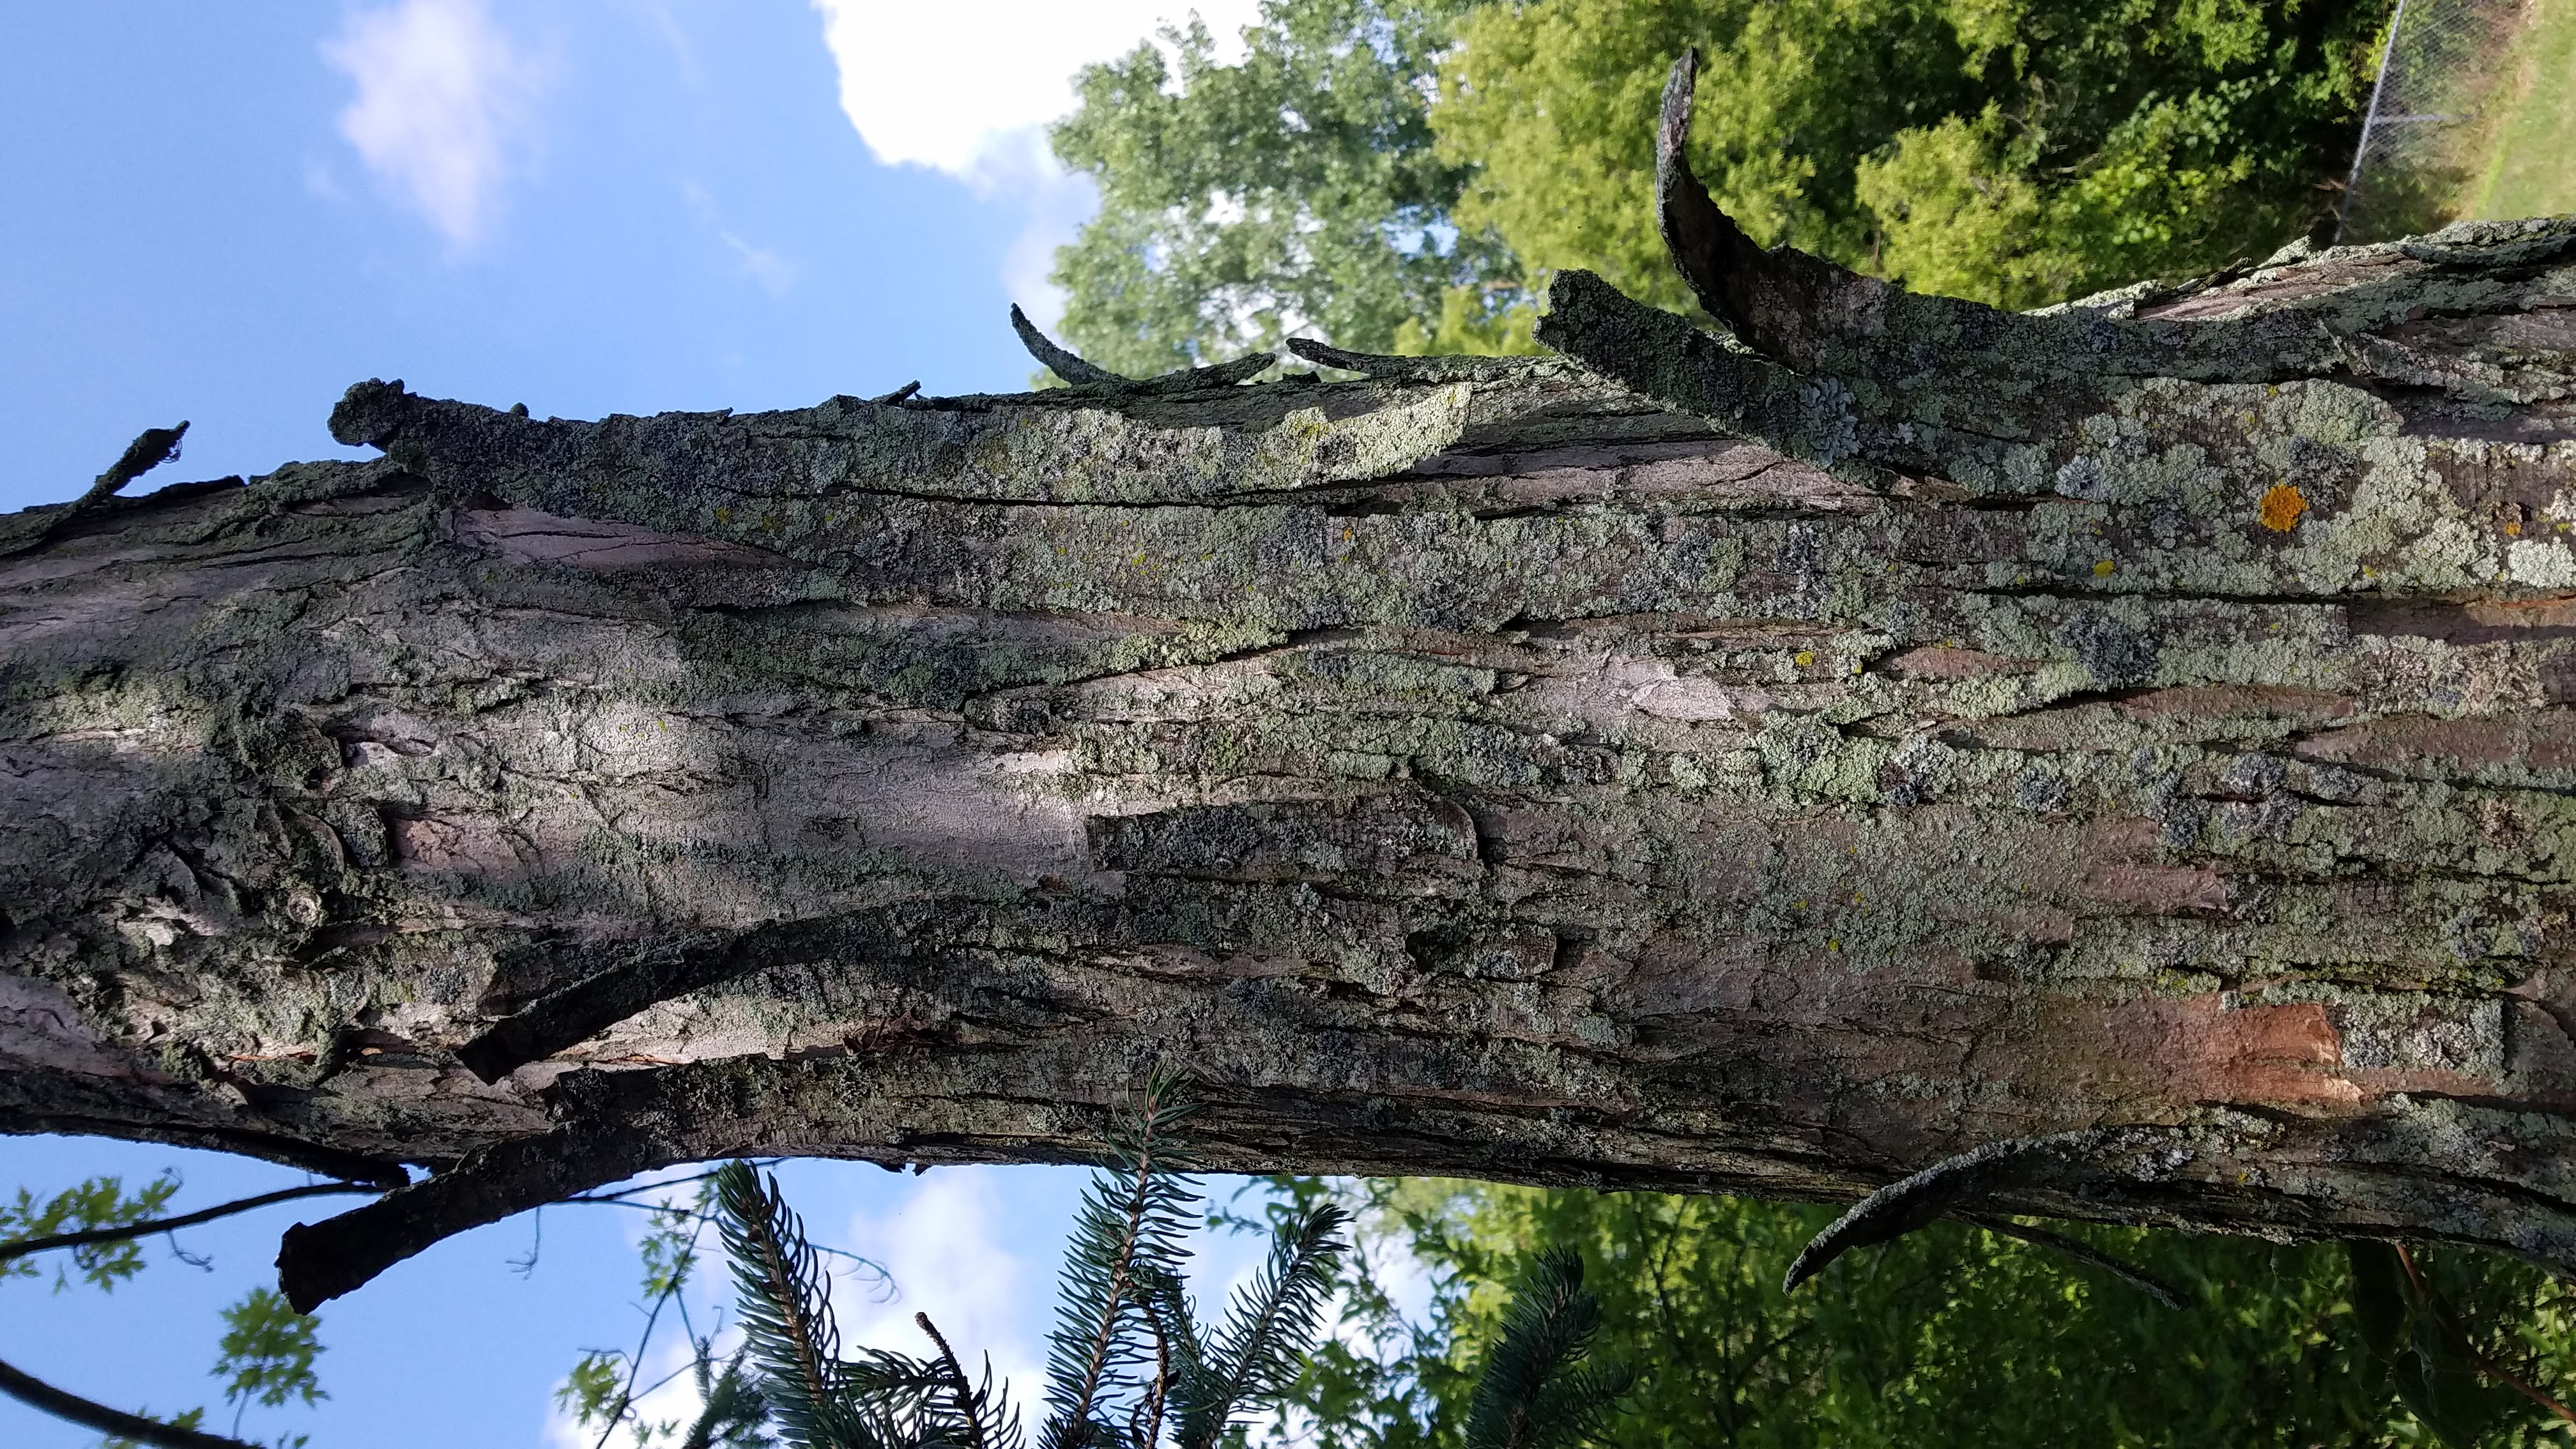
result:
[[[368,170],[448,245],[489,235],[502,180],[526,165],[546,67],[510,44],[484,0],[353,10],[322,57],[358,83],[340,134]]]

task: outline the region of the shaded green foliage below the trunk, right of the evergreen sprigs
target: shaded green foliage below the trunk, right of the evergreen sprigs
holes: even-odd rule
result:
[[[1327,1449],[1473,1444],[1466,1364],[1551,1253],[1584,1258],[1600,1348],[1641,1369],[1631,1413],[1597,1434],[1615,1446],[2561,1444],[2566,1423],[2509,1379],[2553,1392],[2576,1377],[2576,1294],[2470,1253],[2416,1250],[2414,1274],[2391,1269],[2388,1302],[2372,1305],[2342,1245],[2058,1225],[2179,1287],[2190,1307],[2174,1312],[2058,1253],[1945,1222],[1783,1294],[1834,1209],[1360,1191],[1376,1253],[1358,1263],[1412,1250],[1435,1289],[1427,1318],[1406,1320],[1368,1274],[1350,1284],[1342,1333],[1291,1395]],[[2398,1261],[2385,1245],[2352,1258]]]

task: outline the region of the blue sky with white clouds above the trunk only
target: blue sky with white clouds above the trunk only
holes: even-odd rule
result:
[[[178,418],[152,485],[337,456],[366,376],[564,418],[1023,387],[1005,309],[1090,206],[1038,124],[1175,10],[0,0],[0,508]]]

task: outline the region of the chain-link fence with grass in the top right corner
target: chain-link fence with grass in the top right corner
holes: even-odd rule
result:
[[[2473,214],[2499,124],[2535,80],[2517,41],[2576,0],[2398,0],[2344,186],[2339,240],[2429,232]],[[2576,160],[2568,160],[2576,165]]]

